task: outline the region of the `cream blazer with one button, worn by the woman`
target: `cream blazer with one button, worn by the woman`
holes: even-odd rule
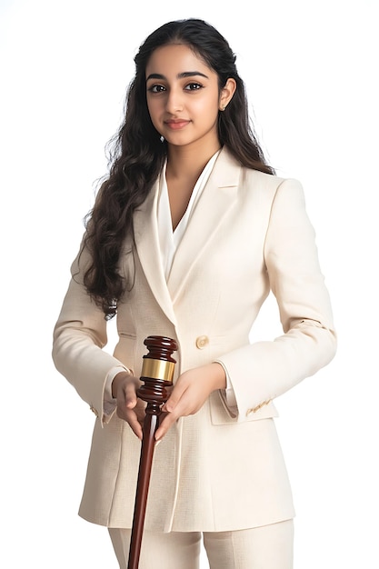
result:
[[[120,268],[134,282],[118,306],[119,341],[106,344],[104,314],[85,293],[86,253],[72,266],[55,326],[55,366],[95,412],[79,514],[95,524],[131,527],[140,442],[104,410],[105,378],[117,364],[141,373],[144,340],[174,338],[175,379],[219,361],[236,406],[214,392],[179,419],[155,447],[145,528],[227,531],[294,516],[274,399],[334,357],[329,295],[301,185],[246,169],[223,149],[200,196],[165,280],[158,243],[158,187],[135,212],[135,243]],[[249,343],[273,291],[283,334]]]

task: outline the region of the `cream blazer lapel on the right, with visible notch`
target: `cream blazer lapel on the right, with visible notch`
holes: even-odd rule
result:
[[[194,205],[185,235],[179,244],[167,280],[172,302],[183,288],[191,267],[202,255],[204,245],[212,238],[218,226],[228,215],[237,192],[241,166],[223,149]]]

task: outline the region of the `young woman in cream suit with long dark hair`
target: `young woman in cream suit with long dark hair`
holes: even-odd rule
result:
[[[301,185],[274,175],[230,46],[202,20],[145,40],[109,175],[55,326],[54,361],[95,412],[79,514],[127,566],[152,334],[175,339],[141,569],[290,569],[294,506],[274,398],[335,352]],[[269,292],[283,334],[249,342]],[[106,321],[119,341],[107,354]]]

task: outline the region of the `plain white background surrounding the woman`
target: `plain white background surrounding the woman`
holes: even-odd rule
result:
[[[76,515],[94,417],[51,336],[135,52],[189,16],[228,39],[271,163],[302,181],[334,305],[333,363],[277,400],[295,569],[379,566],[376,1],[0,5],[1,566],[116,567],[106,530]],[[276,334],[272,315],[254,334]]]

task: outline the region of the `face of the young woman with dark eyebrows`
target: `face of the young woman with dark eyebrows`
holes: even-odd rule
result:
[[[219,147],[218,76],[187,45],[158,47],[146,65],[147,107],[168,145]]]

